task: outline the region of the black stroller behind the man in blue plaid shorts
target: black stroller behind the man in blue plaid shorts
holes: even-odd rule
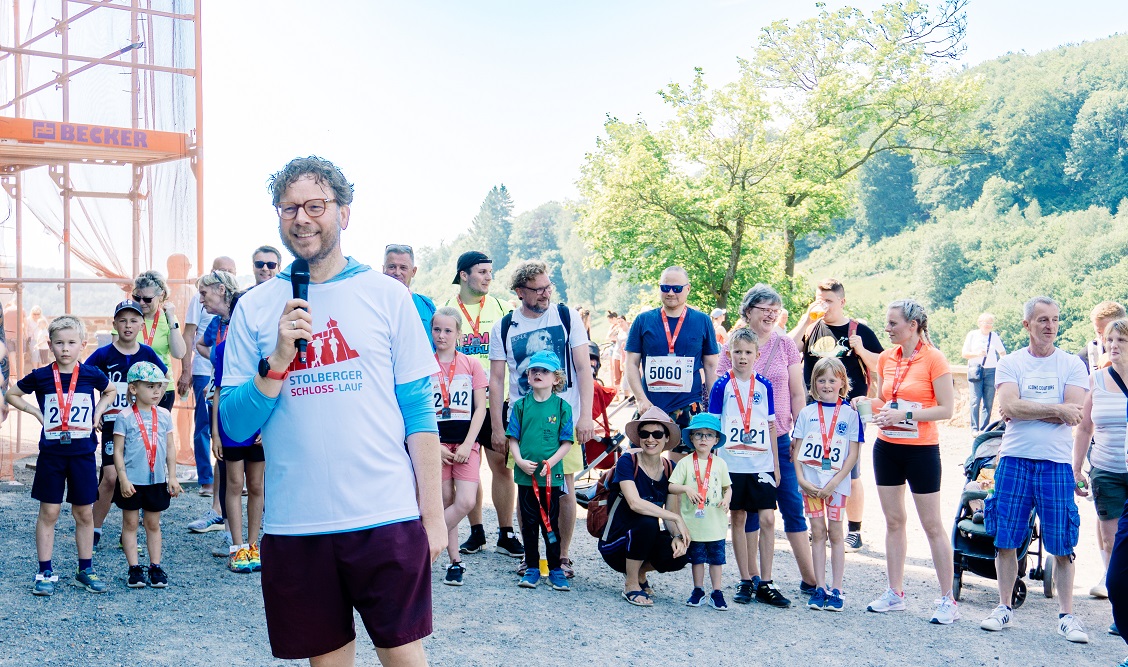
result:
[[[1004,422],[997,421],[976,437],[975,450],[963,464],[968,482],[975,481],[981,469],[996,466],[1004,428]],[[987,494],[987,491],[963,491],[960,497],[960,509],[955,515],[955,526],[952,528],[955,572],[952,581],[952,596],[957,600],[960,599],[964,571],[989,579],[998,577],[995,571],[995,539],[987,534],[987,527],[982,523],[982,511],[971,509],[972,501],[978,500],[981,504]],[[1022,603],[1026,600],[1026,582],[1022,580],[1023,576],[1029,576],[1032,581],[1041,581],[1042,593],[1046,597],[1054,597],[1054,559],[1046,558],[1043,562],[1043,553],[1041,529],[1038,517],[1032,511],[1030,512],[1026,537],[1017,550],[1019,578],[1014,582],[1014,593],[1011,595],[1012,607],[1021,607]],[[1034,567],[1028,572],[1026,565],[1030,564],[1030,559],[1034,559]]]

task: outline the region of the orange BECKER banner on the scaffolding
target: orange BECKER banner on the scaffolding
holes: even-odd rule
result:
[[[77,143],[91,147],[133,148],[164,153],[187,155],[188,152],[188,135],[179,132],[33,121],[30,119],[0,119],[0,140],[5,139],[32,143]]]

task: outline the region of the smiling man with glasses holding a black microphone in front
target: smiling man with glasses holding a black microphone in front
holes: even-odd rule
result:
[[[309,262],[309,298],[291,298],[288,269],[239,300],[220,403],[232,439],[263,432],[271,650],[352,665],[355,609],[381,664],[421,665],[447,544],[439,368],[403,286],[341,251],[353,199],[341,170],[296,158],[271,191],[282,243]]]

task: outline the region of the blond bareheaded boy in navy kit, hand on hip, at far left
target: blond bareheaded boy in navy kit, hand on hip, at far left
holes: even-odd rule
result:
[[[90,593],[105,593],[106,582],[94,571],[94,501],[98,498],[94,424],[114,401],[114,386],[100,370],[79,363],[86,348],[86,327],[73,315],[56,317],[47,327],[54,363],[36,368],[8,390],[6,401],[39,420],[39,456],[32,498],[39,501],[35,524],[35,550],[39,572],[32,593],[51,595],[59,576],[51,564],[63,491],[74,517],[78,573],[74,585]],[[95,404],[94,393],[100,393]],[[24,396],[35,394],[37,405]]]

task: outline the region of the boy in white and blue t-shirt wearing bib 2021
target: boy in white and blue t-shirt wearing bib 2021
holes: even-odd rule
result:
[[[772,383],[752,371],[760,350],[759,339],[751,330],[732,332],[726,353],[732,369],[713,385],[708,404],[710,412],[721,418],[725,444],[720,454],[732,476],[732,552],[740,570],[733,602],[748,604],[755,595],[767,605],[788,607],[791,600],[772,582],[775,548],[759,545],[760,530],[775,536],[779,485]],[[760,530],[746,533],[744,520],[752,511],[759,514]]]

